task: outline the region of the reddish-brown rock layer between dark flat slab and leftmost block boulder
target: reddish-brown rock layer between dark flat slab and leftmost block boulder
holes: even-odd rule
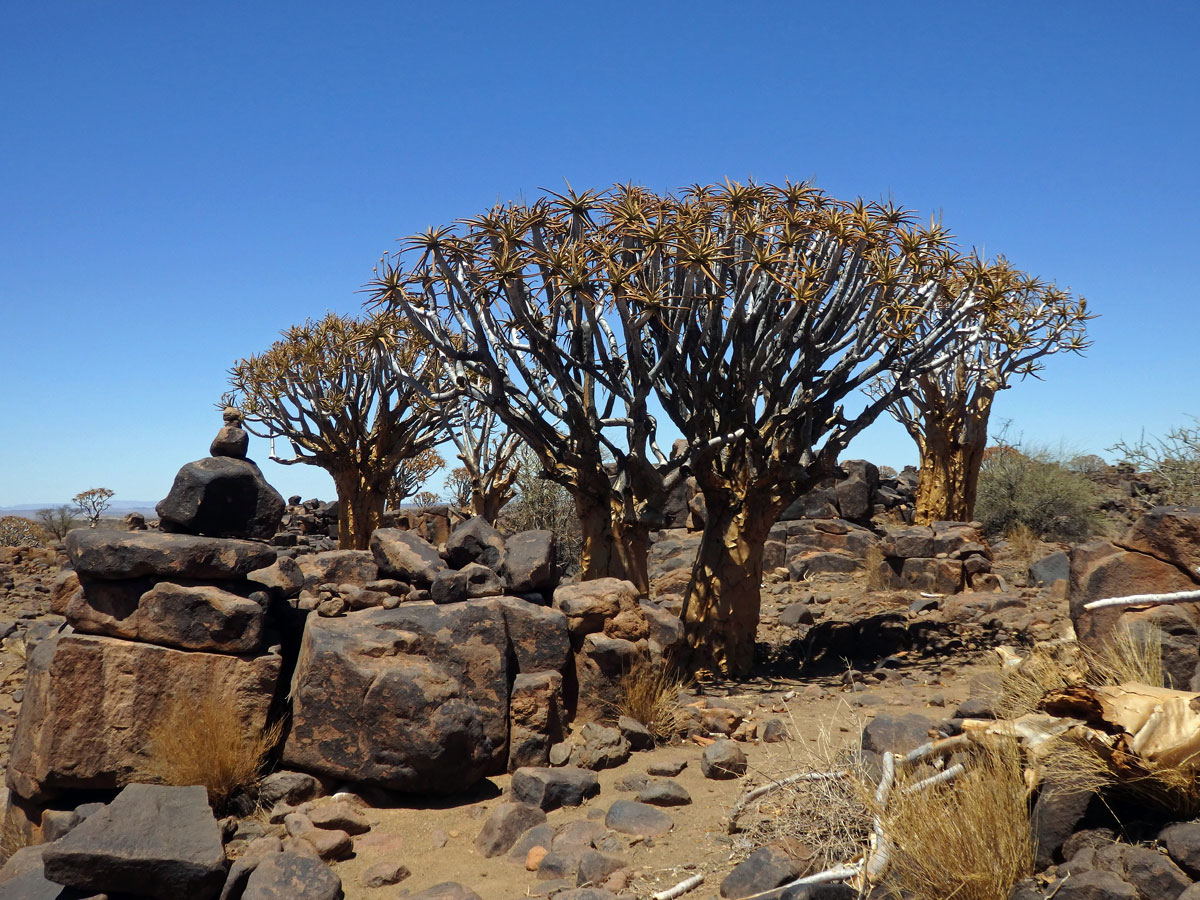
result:
[[[262,644],[264,602],[215,584],[134,578],[89,581],[67,602],[77,630],[185,650],[253,653]]]

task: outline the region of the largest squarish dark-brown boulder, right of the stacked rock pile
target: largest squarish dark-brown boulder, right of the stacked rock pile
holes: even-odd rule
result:
[[[310,617],[284,761],[456,793],[508,763],[508,637],[494,600]]]

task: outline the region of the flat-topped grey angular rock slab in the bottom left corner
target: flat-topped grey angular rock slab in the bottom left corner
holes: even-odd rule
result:
[[[42,854],[46,877],[77,890],[210,900],[226,857],[203,787],[130,785]]]

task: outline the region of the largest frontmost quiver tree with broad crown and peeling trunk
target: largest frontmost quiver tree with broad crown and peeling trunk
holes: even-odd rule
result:
[[[956,266],[940,227],[808,185],[623,188],[606,212],[613,302],[641,326],[629,365],[649,372],[704,496],[684,601],[692,666],[745,673],[772,524],[894,398],[847,415],[847,395],[940,364],[980,301],[964,290],[935,317]]]

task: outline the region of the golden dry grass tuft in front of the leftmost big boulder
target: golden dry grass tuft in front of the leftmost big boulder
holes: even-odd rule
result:
[[[236,710],[208,694],[197,704],[173,698],[149,736],[146,774],[167,785],[203,785],[218,814],[239,793],[251,792],[282,734],[282,722],[247,737]]]

